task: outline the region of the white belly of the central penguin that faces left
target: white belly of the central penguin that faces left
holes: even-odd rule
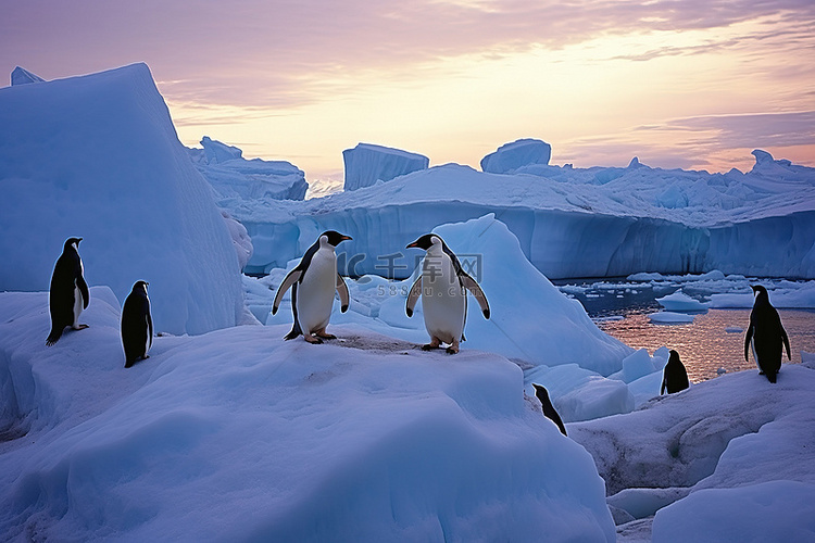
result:
[[[441,265],[431,261],[422,274],[422,312],[427,333],[444,343],[461,340],[466,292],[459,285],[452,263],[449,258],[443,258]]]

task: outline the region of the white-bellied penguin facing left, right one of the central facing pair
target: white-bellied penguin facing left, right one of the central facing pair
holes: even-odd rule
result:
[[[464,324],[467,318],[467,290],[478,301],[484,318],[490,318],[487,296],[475,279],[461,267],[455,254],[444,240],[436,233],[426,233],[405,249],[417,248],[427,251],[422,262],[422,274],[411,287],[404,307],[409,317],[413,316],[419,294],[425,315],[425,329],[430,342],[422,345],[424,351],[439,349],[448,343],[449,354],[459,352],[459,341],[465,341]]]

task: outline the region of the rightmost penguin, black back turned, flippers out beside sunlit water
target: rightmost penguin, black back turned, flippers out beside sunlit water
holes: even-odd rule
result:
[[[781,369],[781,358],[783,353],[781,343],[787,348],[787,358],[790,356],[790,340],[787,337],[787,330],[781,325],[781,317],[769,303],[767,289],[761,285],[751,286],[755,302],[753,311],[750,312],[750,326],[747,336],[744,336],[744,361],[750,362],[748,357],[749,348],[753,349],[753,358],[758,366],[758,375],[767,377],[769,382],[776,382],[776,375]]]

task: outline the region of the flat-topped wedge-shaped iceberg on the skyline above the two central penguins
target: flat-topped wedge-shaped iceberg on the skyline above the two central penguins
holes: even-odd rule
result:
[[[371,143],[358,143],[353,149],[346,149],[342,160],[346,164],[344,190],[390,181],[411,172],[427,169],[430,164],[430,159],[422,154]]]

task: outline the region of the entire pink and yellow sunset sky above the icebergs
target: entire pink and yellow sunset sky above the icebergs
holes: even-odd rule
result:
[[[479,168],[815,166],[812,0],[0,0],[0,73],[146,62],[179,139],[342,180],[359,142]]]

